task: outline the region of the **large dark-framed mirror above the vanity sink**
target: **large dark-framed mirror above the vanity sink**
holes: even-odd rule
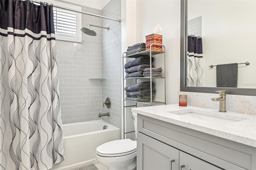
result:
[[[207,3],[206,3],[207,2]],[[210,2],[212,4],[210,4]],[[255,32],[255,1],[251,0],[241,0],[236,1],[236,3],[254,3],[253,5],[245,4],[247,10],[249,8],[249,12],[244,12],[244,16],[241,16],[241,11],[227,12],[227,8],[225,6],[238,6],[241,7],[242,4],[232,4],[234,1],[224,0],[210,0],[210,1],[202,1],[202,0],[181,0],[181,60],[180,60],[180,91],[187,92],[204,92],[204,93],[216,93],[216,90],[226,90],[227,94],[237,94],[237,95],[249,95],[256,96],[256,32]],[[214,3],[222,3],[215,5],[217,7],[223,8],[226,10],[225,12],[220,12],[222,9],[214,9]],[[191,5],[188,7],[188,5]],[[247,7],[246,7],[247,5]],[[210,8],[202,7],[202,6],[210,6]],[[196,9],[195,9],[196,8]],[[202,8],[204,8],[202,10]],[[190,10],[190,12],[188,11]],[[231,8],[232,9],[232,8]],[[245,10],[246,10],[245,9]],[[196,12],[196,11],[199,12]],[[214,11],[212,11],[214,10]],[[242,10],[242,8],[240,8]],[[191,12],[192,11],[192,12]],[[207,14],[207,12],[210,14]],[[220,14],[226,14],[220,16]],[[239,13],[239,14],[236,14]],[[254,15],[251,15],[254,14]],[[190,15],[190,16],[188,16]],[[232,19],[232,16],[235,18]],[[238,15],[238,16],[237,16]],[[244,22],[237,22],[239,19]],[[247,15],[247,16],[246,16]],[[219,16],[219,17],[218,17]],[[229,18],[228,18],[229,17]],[[231,18],[230,18],[231,17]],[[246,17],[246,19],[244,19]],[[202,81],[202,87],[192,87],[186,86],[187,83],[187,50],[188,50],[188,20],[193,19],[201,19],[199,34],[198,32],[190,32],[190,34],[196,34],[195,36],[202,37],[202,52],[204,62],[202,64],[204,80]],[[189,22],[190,22],[189,21]],[[245,22],[248,21],[248,22]],[[252,22],[253,21],[253,22]],[[207,25],[208,24],[208,25]],[[210,24],[210,25],[209,25]],[[218,25],[219,24],[219,25]],[[245,25],[247,24],[247,30],[244,30]],[[206,26],[207,25],[207,26]],[[232,26],[228,28],[227,26]],[[206,29],[208,28],[208,29]],[[210,29],[211,28],[211,29]],[[215,29],[214,29],[215,28]],[[238,30],[234,30],[235,28],[239,28]],[[234,31],[233,31],[234,30]],[[200,34],[201,31],[201,34]],[[250,33],[249,33],[250,31]],[[229,33],[232,33],[231,35]],[[247,34],[248,33],[248,34]],[[212,35],[214,34],[214,35]],[[221,36],[218,36],[221,35]],[[244,36],[240,36],[244,35]],[[235,40],[238,37],[242,37],[237,43]],[[226,38],[226,39],[224,39]],[[231,40],[231,42],[230,42]],[[217,43],[216,43],[217,41]],[[211,44],[212,43],[212,44]],[[241,45],[242,43],[242,45]],[[228,45],[227,45],[228,44]],[[207,46],[208,45],[208,46]],[[236,46],[242,47],[239,51],[239,48]],[[215,51],[212,52],[210,49],[215,48]],[[224,49],[224,51],[222,50]],[[245,54],[243,55],[242,54]],[[248,53],[247,53],[248,52]],[[237,55],[238,54],[238,55]],[[198,54],[199,55],[199,54]],[[205,56],[204,56],[205,55]],[[220,58],[217,58],[220,57]],[[225,57],[224,57],[225,56]],[[213,59],[210,59],[213,58]],[[245,61],[246,60],[246,61]],[[231,63],[242,63],[242,62],[250,62],[250,65],[246,66],[245,64],[237,65],[237,88],[230,87],[216,87],[216,67],[210,68],[210,65],[218,65],[218,64],[231,64]],[[250,60],[250,61],[249,61]],[[209,79],[208,79],[209,78]],[[242,78],[242,79],[241,79]]]

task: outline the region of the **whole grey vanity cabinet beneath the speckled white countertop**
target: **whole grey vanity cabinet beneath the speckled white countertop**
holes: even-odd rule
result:
[[[138,170],[255,170],[255,160],[252,146],[138,114]]]

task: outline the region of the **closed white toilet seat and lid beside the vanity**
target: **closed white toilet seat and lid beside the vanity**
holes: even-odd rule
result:
[[[130,139],[113,140],[96,148],[96,154],[104,157],[116,157],[137,151],[137,143]]]

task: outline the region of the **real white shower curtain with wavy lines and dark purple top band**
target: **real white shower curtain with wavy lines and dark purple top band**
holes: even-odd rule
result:
[[[0,170],[64,160],[52,6],[0,1]]]

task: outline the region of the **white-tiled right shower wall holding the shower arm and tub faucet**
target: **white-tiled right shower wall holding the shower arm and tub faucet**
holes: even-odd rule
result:
[[[101,11],[102,16],[121,18],[121,1],[111,0]],[[102,30],[102,103],[107,97],[111,100],[111,107],[102,108],[102,112],[109,112],[110,116],[103,120],[121,128],[121,24],[116,21],[102,19],[102,26],[110,30]],[[120,131],[121,132],[121,131]]]

